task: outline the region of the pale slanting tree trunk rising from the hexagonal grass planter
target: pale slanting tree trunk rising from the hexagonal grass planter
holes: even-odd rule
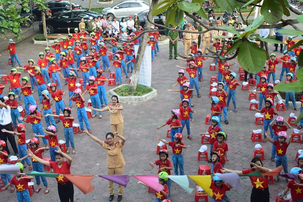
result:
[[[157,3],[158,3],[158,0],[151,0],[150,9],[149,9],[149,13],[147,16],[150,21],[152,21],[154,19],[154,16],[151,15],[151,12],[154,10],[155,5]],[[143,30],[149,30],[151,25],[152,24],[150,22],[148,22],[148,20],[146,20]],[[141,37],[141,42],[140,42],[140,45],[138,48],[138,52],[136,55],[136,61],[135,61],[135,65],[134,65],[134,73],[132,74],[132,80],[131,80],[131,83],[129,84],[130,91],[135,91],[137,89],[141,62],[143,59],[145,46],[146,46],[146,42],[148,41],[148,38],[149,38],[148,33],[144,33]]]

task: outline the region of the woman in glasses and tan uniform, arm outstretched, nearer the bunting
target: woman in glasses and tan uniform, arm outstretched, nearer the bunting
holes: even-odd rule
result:
[[[84,131],[90,138],[94,141],[98,142],[102,148],[106,151],[106,165],[107,165],[107,174],[108,175],[121,175],[123,174],[123,166],[125,165],[124,158],[122,156],[122,147],[124,146],[124,142],[126,138],[122,135],[118,134],[118,132],[107,133],[105,135],[106,141],[101,141],[97,137],[89,134],[87,130]],[[120,140],[118,142],[114,141],[114,137],[118,137]],[[123,186],[119,185],[118,191],[118,201],[122,200],[123,194]],[[109,201],[114,199],[114,183],[112,181],[108,181],[108,189],[109,189]]]

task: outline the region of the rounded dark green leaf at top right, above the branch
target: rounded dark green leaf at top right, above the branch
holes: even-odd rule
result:
[[[283,8],[276,0],[264,0],[260,12],[269,24],[276,24],[283,16]]]

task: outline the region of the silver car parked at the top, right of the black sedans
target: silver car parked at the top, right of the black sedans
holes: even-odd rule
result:
[[[129,15],[134,15],[149,9],[149,4],[141,0],[128,0],[118,3],[110,8],[104,8],[102,10],[102,15],[111,16],[112,19],[114,16],[119,19]]]

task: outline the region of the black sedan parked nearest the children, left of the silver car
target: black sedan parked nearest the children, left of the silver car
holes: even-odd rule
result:
[[[67,28],[79,28],[81,18],[84,18],[85,26],[89,20],[89,17],[97,18],[101,14],[94,11],[75,9],[72,11],[66,11],[58,16],[45,19],[46,32],[52,34],[54,31],[67,32]],[[39,22],[39,30],[43,31],[42,21]]]

